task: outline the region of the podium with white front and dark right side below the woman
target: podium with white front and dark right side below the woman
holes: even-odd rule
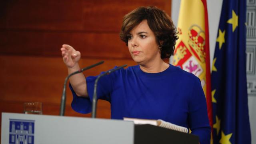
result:
[[[1,144],[198,144],[198,136],[123,120],[2,113]]]

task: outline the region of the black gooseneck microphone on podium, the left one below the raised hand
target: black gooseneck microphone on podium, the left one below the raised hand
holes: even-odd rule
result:
[[[76,71],[76,72],[73,72],[73,73],[69,74],[69,75],[66,77],[66,79],[65,79],[65,81],[64,81],[64,86],[63,86],[63,91],[62,91],[62,97],[61,97],[61,102],[60,102],[60,116],[64,116],[64,113],[65,113],[65,105],[66,105],[66,84],[67,84],[68,78],[70,78],[70,76],[73,76],[74,74],[78,74],[78,73],[80,73],[80,72],[83,72],[83,71],[85,71],[85,70],[88,70],[88,69],[90,69],[90,68],[93,68],[93,67],[98,66],[98,65],[103,64],[103,63],[104,63],[104,61],[101,61],[101,62],[98,62],[98,63],[93,64],[93,65],[91,65],[91,66],[87,66],[87,67],[85,67],[85,68],[82,68],[82,69],[80,69],[80,70],[78,70],[78,71]]]

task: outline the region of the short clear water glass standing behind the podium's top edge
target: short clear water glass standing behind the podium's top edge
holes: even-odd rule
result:
[[[25,102],[24,114],[43,114],[42,102]]]

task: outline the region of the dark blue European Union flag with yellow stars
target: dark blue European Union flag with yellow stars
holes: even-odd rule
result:
[[[214,144],[250,144],[246,0],[223,0],[212,66]]]

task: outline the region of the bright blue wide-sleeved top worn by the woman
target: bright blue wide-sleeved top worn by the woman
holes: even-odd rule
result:
[[[89,98],[78,97],[72,86],[72,108],[92,111],[96,76],[86,78]],[[139,65],[117,70],[98,81],[98,99],[111,104],[111,118],[162,119],[190,128],[200,144],[210,144],[206,99],[199,78],[170,64],[159,73],[143,72]]]

